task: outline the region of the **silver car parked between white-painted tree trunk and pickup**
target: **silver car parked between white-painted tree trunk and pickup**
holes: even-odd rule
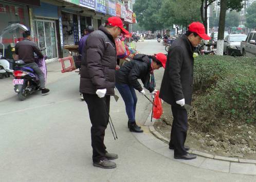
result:
[[[247,35],[245,34],[229,34],[224,38],[224,54],[227,55],[242,55],[240,51],[240,44],[245,41]]]

